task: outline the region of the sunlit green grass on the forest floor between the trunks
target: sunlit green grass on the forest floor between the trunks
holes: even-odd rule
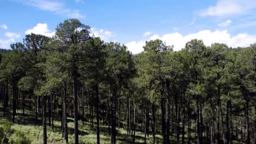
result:
[[[43,143],[43,127],[41,122],[41,117],[39,120],[35,120],[35,112],[25,111],[25,116],[22,116],[22,110],[17,111],[16,123],[12,125],[15,131],[26,133],[26,136],[32,141],[32,144],[42,144]],[[12,121],[12,111],[7,110],[6,116],[3,117],[3,109],[0,105],[0,120],[7,119]],[[47,120],[48,122],[48,120]],[[52,128],[47,126],[47,139],[50,144],[63,144],[64,138],[62,138],[61,133],[61,121],[60,118],[55,115],[54,117],[54,132]],[[69,143],[74,142],[74,121],[72,118],[68,118],[68,134]],[[192,137],[195,137],[195,133],[192,133]],[[181,136],[180,136],[181,138]],[[109,144],[111,141],[111,136],[108,134],[107,125],[100,126],[100,142],[101,144]],[[144,144],[144,133],[136,131],[136,144]],[[187,134],[185,134],[185,142],[187,141]],[[80,144],[96,144],[96,125],[91,127],[89,123],[83,123],[79,121],[79,142]],[[160,144],[162,142],[162,136],[155,136],[155,143]],[[181,141],[180,141],[181,142]],[[207,142],[207,141],[205,141]],[[127,136],[127,131],[124,128],[117,128],[117,144],[130,144],[132,143],[132,137]],[[147,137],[147,144],[152,143],[152,136]],[[175,139],[171,138],[171,143],[176,144]],[[191,141],[194,144],[195,141]],[[234,144],[239,144],[239,140],[234,140]]]

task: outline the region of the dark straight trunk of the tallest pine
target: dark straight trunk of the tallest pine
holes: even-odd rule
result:
[[[75,130],[75,144],[78,144],[78,104],[77,104],[77,69],[74,69],[73,72],[73,78],[74,78],[74,87],[73,87],[73,91],[74,91],[74,130]]]

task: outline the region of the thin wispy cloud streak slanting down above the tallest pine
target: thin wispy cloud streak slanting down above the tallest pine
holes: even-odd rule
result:
[[[56,14],[66,15],[70,18],[84,18],[85,16],[79,10],[65,8],[64,5],[56,0],[15,0],[24,5],[33,6],[44,11],[51,11]]]

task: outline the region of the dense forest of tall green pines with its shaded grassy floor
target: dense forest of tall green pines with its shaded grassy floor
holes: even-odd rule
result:
[[[256,44],[143,48],[67,19],[1,50],[1,143],[256,144]]]

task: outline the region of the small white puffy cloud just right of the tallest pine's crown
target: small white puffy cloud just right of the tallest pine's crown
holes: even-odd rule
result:
[[[112,37],[115,37],[115,34],[112,34],[112,32],[109,32],[107,30],[97,30],[95,28],[91,28],[91,33],[94,35],[94,37],[100,37],[102,40],[109,42]]]

